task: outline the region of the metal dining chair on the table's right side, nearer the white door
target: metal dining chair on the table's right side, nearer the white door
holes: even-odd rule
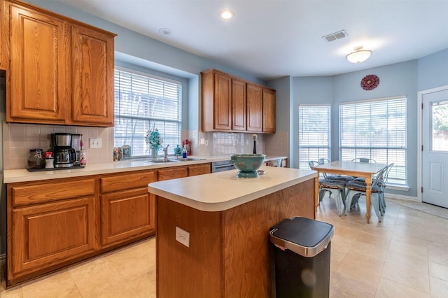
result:
[[[384,177],[384,172],[387,170],[388,166],[385,166],[381,169],[377,176],[374,177],[372,184],[370,185],[370,204],[372,204],[375,214],[377,215],[378,221],[381,222],[381,215],[384,215],[384,212],[381,212],[381,187],[378,184],[378,181],[381,177]],[[348,215],[351,208],[358,202],[360,196],[366,195],[367,183],[362,180],[353,180],[349,183],[346,183],[346,202],[345,202],[345,215]]]

